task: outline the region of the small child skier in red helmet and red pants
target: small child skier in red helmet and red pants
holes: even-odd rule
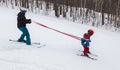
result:
[[[81,44],[84,47],[84,51],[83,51],[84,56],[89,57],[88,56],[88,53],[90,53],[89,52],[89,46],[90,46],[89,42],[91,42],[90,37],[93,34],[94,34],[94,31],[92,29],[89,29],[88,32],[83,35],[83,38],[81,38]]]

